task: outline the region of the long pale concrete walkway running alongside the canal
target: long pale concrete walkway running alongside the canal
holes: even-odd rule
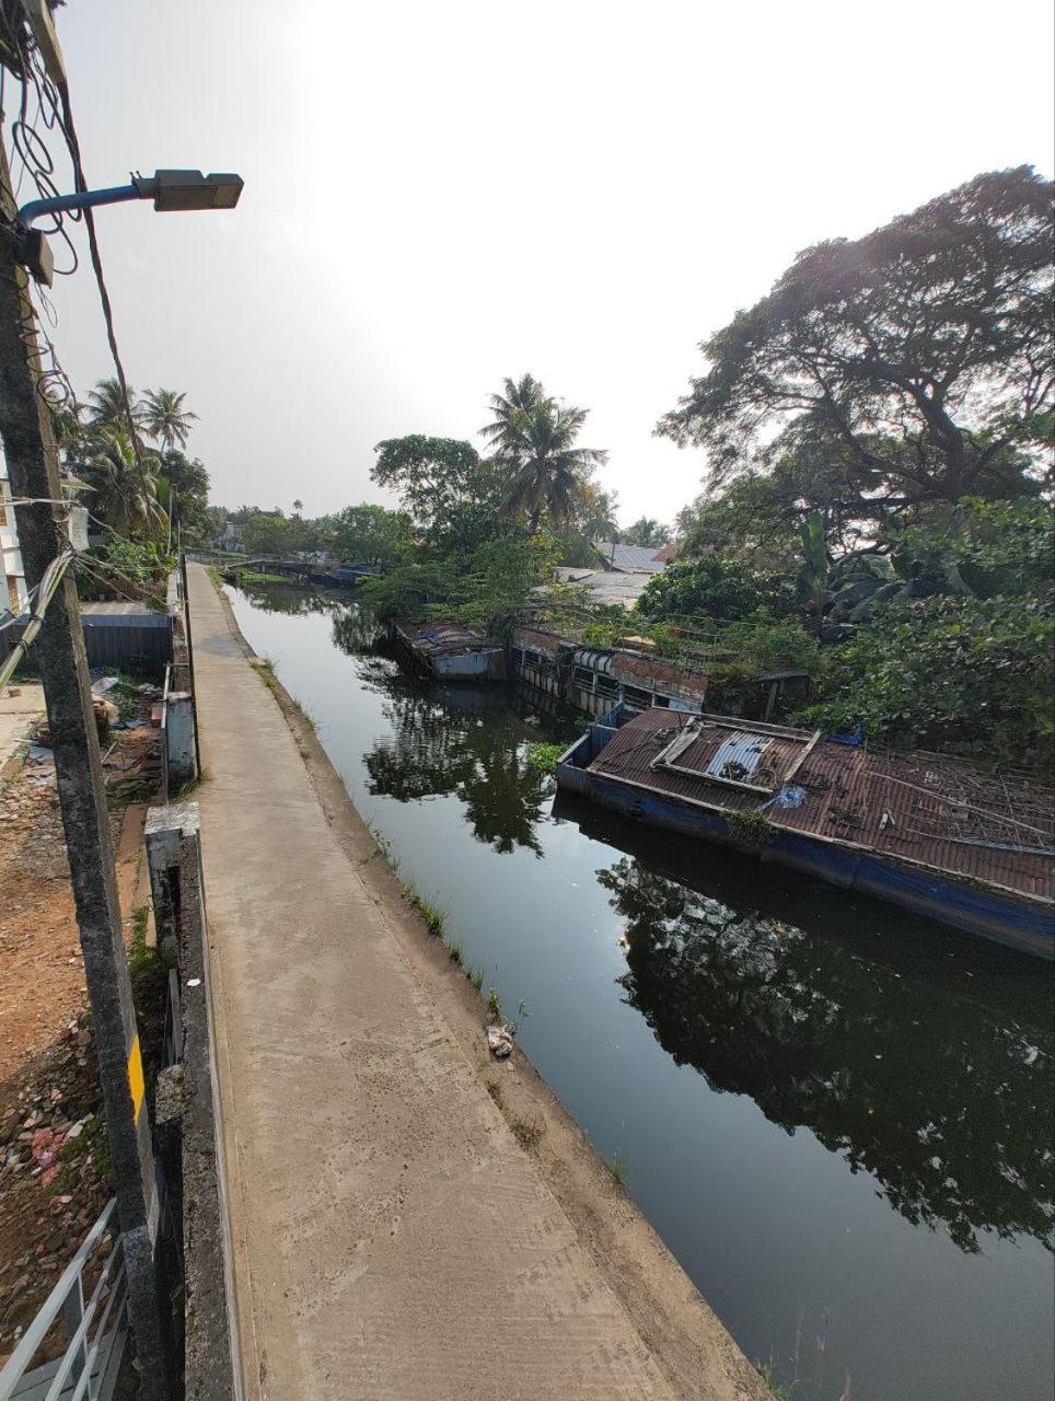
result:
[[[671,1398],[191,567],[247,1397]]]

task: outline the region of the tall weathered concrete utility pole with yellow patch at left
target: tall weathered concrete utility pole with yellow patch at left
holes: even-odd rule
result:
[[[50,413],[38,394],[36,322],[25,270],[14,261],[17,213],[7,154],[0,142],[0,436],[11,489],[18,497],[59,500],[59,457]],[[50,504],[18,506],[15,520],[34,588],[62,549],[64,521]],[[109,1128],[129,1313],[140,1365],[143,1401],[168,1401],[170,1313],[154,1264],[157,1189],[144,1103],[136,1013],[120,926],[106,792],[84,654],[77,590],[67,570],[34,644],[55,752],[59,801],[73,877],[84,972]]]

